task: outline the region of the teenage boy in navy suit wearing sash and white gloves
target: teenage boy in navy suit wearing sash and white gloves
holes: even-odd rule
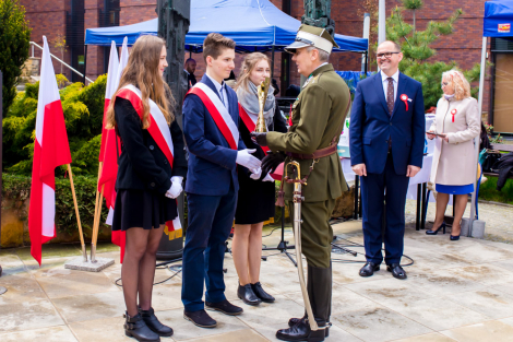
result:
[[[189,149],[186,192],[189,225],[183,248],[183,317],[203,328],[217,322],[204,310],[239,315],[225,297],[223,261],[239,184],[237,164],[260,168],[239,138],[237,94],[224,83],[235,68],[235,42],[210,34],[203,43],[206,73],[183,103],[183,135]],[[244,172],[239,169],[239,172]],[[205,304],[202,300],[206,283]]]

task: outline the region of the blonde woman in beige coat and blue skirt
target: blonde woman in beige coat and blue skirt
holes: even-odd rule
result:
[[[436,184],[437,216],[428,235],[445,234],[443,217],[449,196],[454,194],[455,216],[451,240],[460,239],[461,220],[474,191],[476,157],[473,139],[479,134],[480,118],[477,101],[470,97],[470,84],[457,70],[442,74],[443,97],[437,104],[437,116],[428,139],[436,139],[431,181]]]

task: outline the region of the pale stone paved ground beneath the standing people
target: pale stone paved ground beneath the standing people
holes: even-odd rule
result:
[[[360,222],[334,228],[353,243],[362,240]],[[287,238],[293,240],[289,232]],[[275,246],[278,239],[275,232],[265,244]],[[334,262],[334,326],[326,341],[513,341],[513,245],[472,238],[453,243],[448,235],[426,236],[408,228],[405,253],[415,260],[406,268],[406,281],[393,279],[384,269],[362,279],[360,264]],[[79,255],[75,246],[45,246],[38,268],[27,248],[0,251],[0,285],[9,290],[0,296],[0,341],[133,341],[123,335],[122,292],[114,284],[120,276],[119,263],[100,273],[65,270],[63,263]],[[118,261],[111,245],[100,246],[98,255]],[[362,260],[335,253],[333,258]],[[289,317],[302,315],[296,269],[283,255],[262,262],[261,281],[277,302],[260,307],[237,300],[229,255],[226,267],[226,294],[243,306],[244,314],[213,314],[218,328],[193,327],[182,318],[177,276],[154,288],[157,316],[175,329],[172,339],[163,341],[275,341],[275,331]],[[170,274],[160,269],[156,281]]]

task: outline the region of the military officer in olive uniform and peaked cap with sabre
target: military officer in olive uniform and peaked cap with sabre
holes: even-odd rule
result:
[[[335,199],[347,190],[336,144],[350,102],[349,89],[327,62],[334,46],[338,47],[325,30],[305,24],[299,27],[296,40],[285,50],[294,55],[298,72],[308,79],[293,105],[290,129],[287,133],[253,133],[260,145],[272,151],[262,161],[263,174],[284,161],[285,165],[296,161],[301,179],[307,178],[302,186],[301,245],[308,263],[308,294],[321,329],[312,331],[307,317],[293,318],[288,329],[276,333],[284,341],[323,341],[329,335],[333,240],[329,220]],[[291,199],[293,185],[285,184],[285,200]]]

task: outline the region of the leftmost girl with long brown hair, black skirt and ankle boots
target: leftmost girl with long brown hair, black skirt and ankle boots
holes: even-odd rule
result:
[[[163,80],[167,66],[165,40],[140,37],[107,110],[106,128],[116,129],[121,149],[112,231],[126,232],[124,332],[138,341],[172,334],[152,308],[156,252],[164,226],[178,219],[176,198],[187,174],[182,133]]]

